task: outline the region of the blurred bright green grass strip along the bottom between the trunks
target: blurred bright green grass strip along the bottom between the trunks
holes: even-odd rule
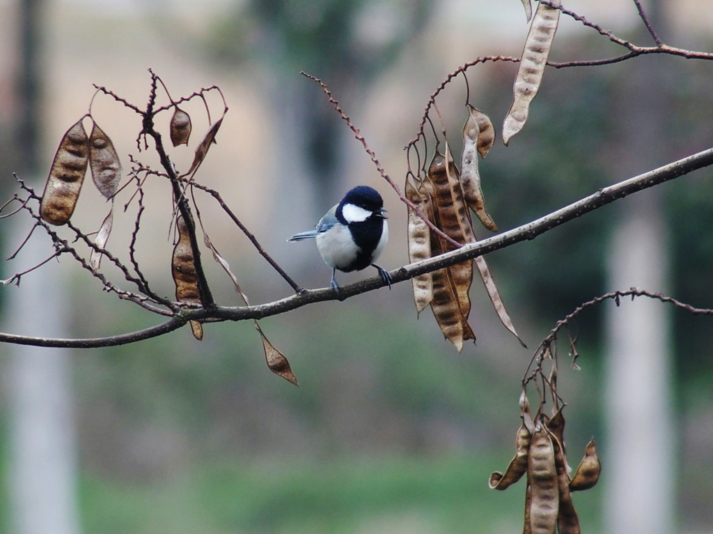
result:
[[[524,487],[490,490],[495,460],[482,454],[282,458],[242,466],[202,462],[159,483],[89,477],[82,484],[85,528],[105,534],[514,531]],[[600,528],[597,496],[577,494],[575,503],[588,530]]]

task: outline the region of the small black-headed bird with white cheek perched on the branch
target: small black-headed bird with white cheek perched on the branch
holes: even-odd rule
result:
[[[332,268],[332,289],[339,293],[337,271],[351,273],[369,266],[391,288],[391,275],[374,263],[389,241],[384,201],[376,189],[360,185],[350,189],[339,204],[327,211],[314,230],[294,234],[287,241],[314,239],[324,263]]]

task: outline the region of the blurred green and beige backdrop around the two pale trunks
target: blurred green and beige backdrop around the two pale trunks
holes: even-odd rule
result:
[[[286,239],[309,229],[346,189],[364,183],[386,197],[391,241],[381,263],[387,268],[407,262],[406,216],[319,87],[299,71],[329,85],[401,184],[402,149],[416,135],[429,95],[441,80],[477,56],[519,56],[527,32],[514,0],[212,0],[201,6],[179,0],[65,0],[41,6],[39,169],[27,169],[36,171],[34,187],[41,189],[62,133],[86,112],[93,83],[136,105],[148,95],[147,68],[163,78],[173,98],[219,85],[230,111],[197,178],[219,189],[267,251],[307,287],[327,286],[329,269],[313,247]],[[630,2],[572,2],[570,7],[637,43],[649,42]],[[0,10],[6,30],[0,142],[11,147],[18,120],[10,88],[18,68],[14,43],[20,30],[14,21],[19,3],[0,3]],[[713,49],[704,2],[682,2],[664,11],[665,41]],[[606,38],[563,17],[552,58],[617,53]],[[468,70],[471,103],[491,115],[498,129],[511,103],[515,70],[508,63]],[[498,142],[481,162],[488,210],[498,226],[511,229],[711,146],[712,79],[708,62],[672,57],[547,70],[523,132],[510,147]],[[438,98],[456,144],[466,116],[465,93],[456,79]],[[636,108],[649,93],[662,105],[644,113],[660,121],[664,135],[659,144],[634,153],[629,147],[646,122],[627,124],[630,116],[622,110]],[[201,105],[188,108],[197,138],[207,121]],[[98,98],[93,112],[125,168],[128,154],[153,162],[150,150],[137,150],[138,117],[108,98]],[[11,172],[27,162],[20,150],[1,153],[0,176],[9,197]],[[179,167],[192,157],[192,148],[175,150]],[[617,167],[622,159],[628,174]],[[669,232],[667,290],[700,307],[713,302],[711,177],[704,169],[659,188],[659,215]],[[171,295],[170,192],[152,180],[146,193],[138,254],[154,290]],[[198,201],[213,243],[251,302],[289,295],[289,287],[211,199]],[[267,370],[250,323],[205,325],[200,343],[183,329],[135,345],[66,352],[71,354],[81,529],[106,534],[517,532],[523,483],[501,493],[489,490],[487,481],[514,453],[520,380],[557,320],[583,301],[617,289],[606,282],[607,246],[628,201],[488,256],[529,350],[498,323],[476,282],[471,325],[478,342],[461,355],[443,340],[429,311],[416,318],[408,283],[263,320],[267,337],[289,358],[299,388]],[[77,224],[98,228],[105,211],[97,194],[83,192]],[[129,211],[117,221],[110,246],[123,251],[132,228]],[[24,237],[9,230],[3,234],[6,250]],[[19,256],[5,267],[3,278],[28,262]],[[65,335],[112,335],[157,323],[144,310],[103,293],[66,259],[61,263],[31,276],[48,276],[66,290],[56,312],[67,324]],[[230,280],[217,266],[209,271],[219,302],[239,305]],[[372,274],[343,275],[340,281]],[[22,287],[0,293],[6,308],[7,292]],[[578,319],[580,371],[569,369],[568,346],[560,346],[559,391],[568,402],[573,466],[594,436],[606,467],[603,311],[595,308]],[[713,460],[712,328],[709,319],[680,311],[671,319],[677,524],[679,531],[713,532],[708,506],[713,500],[708,468]],[[43,333],[41,324],[26,326]],[[7,358],[6,352],[0,354],[1,371]],[[4,402],[0,421],[7,436],[11,425],[5,407]],[[0,466],[11,471],[8,460]],[[615,476],[605,471],[602,479]],[[13,532],[10,491],[8,484],[2,489],[0,533]],[[583,530],[601,532],[601,486],[574,499]]]

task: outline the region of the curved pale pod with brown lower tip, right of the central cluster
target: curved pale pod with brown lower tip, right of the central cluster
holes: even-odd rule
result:
[[[482,112],[468,104],[468,120],[463,126],[463,155],[461,157],[461,188],[466,204],[475,211],[483,226],[488,230],[498,231],[498,226],[486,209],[486,200],[481,189],[481,176],[478,172],[478,151],[481,149],[481,130],[478,124],[478,114]],[[488,122],[490,122],[488,120]],[[492,128],[492,123],[491,123]],[[494,132],[495,130],[493,130]],[[495,137],[491,137],[491,141]],[[491,142],[492,145],[492,142]],[[487,153],[490,147],[483,145]],[[482,154],[483,152],[481,152]]]

